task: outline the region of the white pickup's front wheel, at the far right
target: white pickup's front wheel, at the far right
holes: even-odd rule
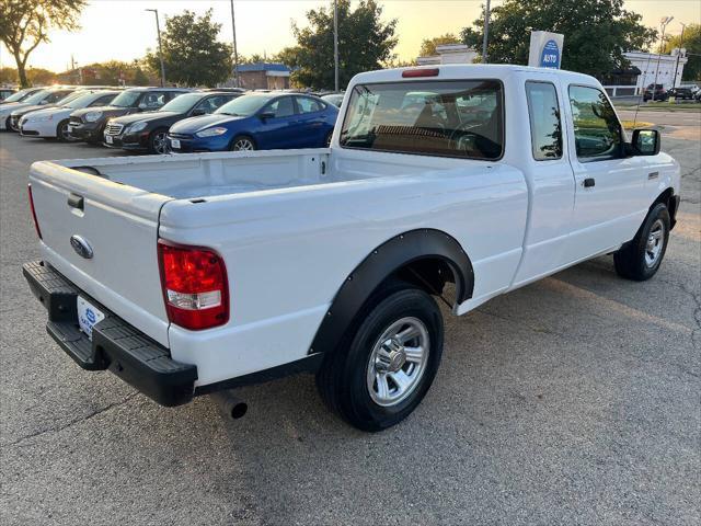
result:
[[[644,282],[653,277],[659,270],[667,251],[669,225],[669,210],[664,203],[658,203],[647,214],[635,238],[613,254],[613,265],[618,275],[635,282]],[[651,241],[651,235],[654,237],[660,228],[658,242],[662,247],[657,251],[657,244],[652,247],[648,241]],[[654,259],[653,254],[655,254]]]

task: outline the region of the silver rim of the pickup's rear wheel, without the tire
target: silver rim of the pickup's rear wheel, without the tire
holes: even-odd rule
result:
[[[388,327],[370,353],[367,387],[384,408],[405,400],[418,386],[430,352],[428,330],[418,318],[402,318]]]

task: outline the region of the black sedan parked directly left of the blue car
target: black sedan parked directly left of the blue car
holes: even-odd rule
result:
[[[131,151],[168,153],[168,128],[183,118],[210,114],[240,95],[237,92],[216,91],[185,93],[157,112],[113,118],[107,122],[104,145]]]

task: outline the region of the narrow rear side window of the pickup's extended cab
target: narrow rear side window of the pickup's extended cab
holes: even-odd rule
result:
[[[533,159],[562,158],[562,127],[558,92],[550,82],[526,82]]]

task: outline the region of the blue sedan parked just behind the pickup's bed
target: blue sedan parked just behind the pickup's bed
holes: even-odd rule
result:
[[[173,152],[320,148],[331,144],[338,108],[319,98],[251,93],[168,133]]]

